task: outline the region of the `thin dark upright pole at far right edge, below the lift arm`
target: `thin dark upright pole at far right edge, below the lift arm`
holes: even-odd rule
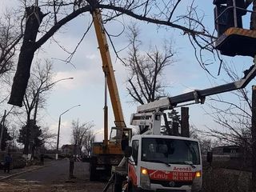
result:
[[[252,138],[252,191],[256,192],[256,86],[252,87],[252,115],[251,115],[251,138]]]

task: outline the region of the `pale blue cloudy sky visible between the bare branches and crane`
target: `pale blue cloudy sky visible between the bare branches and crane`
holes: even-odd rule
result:
[[[16,0],[1,0],[1,10],[6,9],[6,6],[17,5]],[[190,0],[184,0],[183,6],[178,11],[186,9],[186,4]],[[214,28],[214,18],[212,1],[200,2],[199,10],[204,11],[206,26],[209,29]],[[129,22],[127,18],[124,18],[126,22]],[[64,47],[67,47],[70,51],[74,49],[77,42],[82,37],[86,27],[91,21],[89,13],[84,14],[83,17],[74,19],[66,25],[58,34],[54,35],[54,38],[60,42]],[[249,23],[247,21],[247,23]],[[247,24],[246,24],[247,25]],[[139,22],[141,27],[141,40],[143,51],[148,50],[148,47],[158,46],[161,47],[161,43],[166,38],[171,40],[174,45],[174,49],[177,50],[175,59],[177,62],[173,66],[169,66],[165,71],[165,82],[171,87],[166,91],[170,96],[182,94],[194,89],[205,89],[216,85],[215,83],[222,82],[225,79],[224,73],[217,78],[213,79],[206,74],[204,70],[198,65],[194,58],[194,50],[187,38],[181,31],[165,29],[158,29],[157,26],[148,24],[146,22]],[[106,29],[111,34],[118,34],[122,31],[122,25],[120,22],[112,22],[106,25]],[[114,44],[118,48],[122,48],[127,45],[126,35],[122,37],[114,38]],[[122,110],[126,119],[126,125],[129,126],[130,114],[136,111],[136,105],[131,103],[131,98],[126,92],[126,77],[127,72],[119,62],[113,50],[111,50],[112,61],[114,65],[115,75],[118,82],[118,90],[122,102]],[[98,42],[95,37],[94,28],[92,27],[86,38],[77,50],[77,53],[72,60],[74,66],[61,62],[59,59],[66,59],[68,55],[63,52],[59,46],[54,42],[47,42],[42,46],[42,49],[35,54],[34,61],[42,58],[50,58],[54,63],[54,71],[56,81],[62,78],[74,78],[73,80],[66,80],[58,82],[58,85],[54,87],[54,90],[50,93],[46,110],[40,110],[40,123],[42,126],[50,126],[50,129],[57,133],[58,129],[58,117],[65,110],[68,110],[72,106],[81,105],[70,110],[66,114],[62,115],[60,144],[66,144],[70,142],[72,120],[79,119],[80,122],[94,121],[94,133],[97,134],[97,140],[102,139],[102,133],[99,132],[103,127],[103,105],[104,105],[104,74],[102,73],[102,62],[98,51]],[[126,57],[126,50],[121,53],[122,58]],[[207,55],[205,55],[207,57]],[[227,62],[238,63],[238,69],[246,69],[251,65],[251,58],[235,57],[232,60],[224,57]],[[210,70],[213,74],[218,72],[218,64],[210,66]],[[242,74],[242,71],[241,71]],[[223,95],[223,97],[229,97],[229,94]],[[207,98],[206,98],[207,99]],[[114,126],[114,118],[109,103],[109,126]],[[190,106],[190,124],[196,126],[199,129],[205,129],[206,126],[216,126],[214,122],[206,115],[205,110],[201,105]]]

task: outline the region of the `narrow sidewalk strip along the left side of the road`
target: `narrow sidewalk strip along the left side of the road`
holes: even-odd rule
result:
[[[44,166],[50,165],[50,164],[55,163],[55,162],[57,162],[57,161],[55,161],[55,160],[46,161],[44,163]],[[26,172],[29,172],[29,171],[41,169],[44,166],[25,166],[24,168],[10,170],[9,174],[4,173],[4,170],[0,170],[0,182],[2,180],[6,179],[6,178],[11,178],[11,177],[14,177],[18,174],[23,174],[23,173],[26,173]]]

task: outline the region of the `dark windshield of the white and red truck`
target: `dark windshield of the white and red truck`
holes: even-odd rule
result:
[[[171,138],[142,138],[142,161],[199,165],[198,142]]]

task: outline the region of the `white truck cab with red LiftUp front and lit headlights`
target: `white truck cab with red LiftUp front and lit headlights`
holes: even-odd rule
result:
[[[202,191],[202,158],[197,140],[134,135],[128,161],[130,191]]]

